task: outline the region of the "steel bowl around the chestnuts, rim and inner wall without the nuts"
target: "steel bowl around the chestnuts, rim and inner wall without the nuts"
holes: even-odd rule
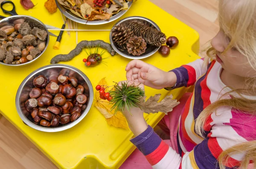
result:
[[[33,79],[39,75],[44,75],[45,77],[47,77],[47,79],[50,76],[58,77],[58,74],[60,73],[66,76],[70,75],[70,76],[76,77],[78,79],[79,84],[84,86],[84,89],[87,89],[87,90],[84,90],[84,95],[87,96],[87,100],[88,100],[87,106],[84,109],[84,111],[81,112],[81,116],[71,123],[64,124],[64,125],[60,124],[58,127],[55,127],[55,128],[49,128],[49,127],[44,127],[44,126],[35,124],[30,113],[26,110],[26,107],[25,107],[25,102],[26,100],[29,99],[29,92],[34,87]],[[86,91],[89,91],[89,93]],[[73,66],[68,66],[63,64],[48,65],[35,70],[23,80],[23,82],[20,84],[20,87],[17,91],[15,102],[16,102],[17,112],[25,124],[32,127],[33,129],[37,129],[43,132],[59,132],[66,129],[70,129],[71,127],[75,126],[87,115],[93,103],[93,87],[88,77],[79,69],[76,69]]]

